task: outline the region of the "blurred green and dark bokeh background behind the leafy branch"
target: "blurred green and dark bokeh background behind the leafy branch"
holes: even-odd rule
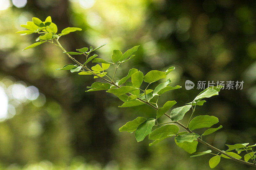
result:
[[[173,138],[149,147],[148,139],[137,143],[134,134],[119,132],[137,116],[156,112],[145,105],[118,108],[122,102],[104,91],[85,93],[97,79],[55,71],[72,63],[56,46],[21,51],[36,35],[15,34],[23,30],[20,24],[49,15],[58,32],[83,29],[60,39],[67,51],[107,42],[97,54],[111,61],[113,49],[140,45],[117,78],[130,68],[146,74],[175,66],[168,78],[183,88],[162,95],[160,106],[192,101],[200,90],[185,90],[187,79],[243,80],[242,90],[222,90],[195,115],[219,118],[223,128],[205,141],[221,150],[225,144],[255,144],[255,9],[256,1],[238,0],[0,0],[0,169],[210,169],[211,155],[189,158]],[[198,145],[198,152],[205,150]],[[216,169],[254,168],[221,159]]]

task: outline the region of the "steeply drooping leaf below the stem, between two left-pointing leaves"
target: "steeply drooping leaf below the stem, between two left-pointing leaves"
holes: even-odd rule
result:
[[[156,119],[148,119],[141,123],[135,131],[135,138],[137,142],[143,141],[148,134],[152,132],[152,128],[155,125]]]

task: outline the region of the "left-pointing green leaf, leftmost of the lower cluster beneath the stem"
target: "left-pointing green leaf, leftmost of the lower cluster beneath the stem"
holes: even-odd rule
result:
[[[138,126],[145,122],[147,119],[144,117],[137,117],[136,119],[134,119],[133,121],[127,122],[125,123],[124,126],[122,126],[121,128],[119,128],[119,132],[129,132],[132,133],[133,131],[135,131]]]

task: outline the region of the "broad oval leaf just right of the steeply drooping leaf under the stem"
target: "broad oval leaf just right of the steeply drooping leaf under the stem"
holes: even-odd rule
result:
[[[149,134],[148,139],[150,140],[160,140],[165,136],[177,135],[180,128],[176,125],[165,125],[160,128],[155,129],[152,133]]]

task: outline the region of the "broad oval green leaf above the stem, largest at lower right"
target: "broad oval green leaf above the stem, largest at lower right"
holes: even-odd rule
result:
[[[188,128],[190,130],[200,129],[200,128],[210,128],[212,125],[219,122],[219,119],[215,116],[209,115],[200,115],[196,116],[191,122],[188,124]]]

